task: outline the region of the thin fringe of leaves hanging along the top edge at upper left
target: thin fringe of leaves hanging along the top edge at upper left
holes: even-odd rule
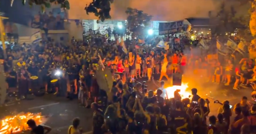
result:
[[[11,6],[14,0],[11,1]],[[22,4],[25,5],[27,0],[22,0]],[[60,4],[61,8],[64,9],[69,9],[69,2],[68,0],[28,0],[28,5],[33,6],[33,5],[40,5],[42,12],[45,12],[45,8],[51,8],[51,3],[54,4]]]

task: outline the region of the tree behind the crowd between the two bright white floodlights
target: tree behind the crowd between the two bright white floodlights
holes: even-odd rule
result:
[[[132,34],[133,36],[144,35],[148,30],[150,20],[153,16],[133,8],[127,8],[125,13],[128,15],[126,21],[128,34]]]

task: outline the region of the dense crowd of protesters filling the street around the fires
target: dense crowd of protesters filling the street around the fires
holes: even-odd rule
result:
[[[167,39],[167,36],[162,38]],[[8,93],[17,92],[19,99],[25,99],[29,89],[69,99],[77,96],[80,105],[94,110],[93,134],[249,134],[253,131],[256,105],[247,104],[246,97],[234,107],[237,115],[234,120],[230,120],[232,112],[228,101],[217,101],[222,105],[219,114],[207,120],[208,99],[200,98],[197,89],[191,90],[191,99],[182,99],[179,90],[170,98],[162,78],[171,80],[173,74],[185,75],[186,71],[205,69],[208,81],[224,82],[227,86],[234,82],[234,89],[238,89],[240,83],[250,86],[254,81],[254,60],[242,59],[237,65],[232,57],[225,62],[209,60],[207,56],[184,54],[185,48],[180,44],[171,44],[169,50],[154,47],[157,42],[136,48],[134,42],[137,41],[128,38],[124,41],[128,51],[125,53],[116,42],[97,35],[85,41],[73,38],[71,45],[49,39],[36,45],[9,47],[8,59],[4,62]],[[109,68],[113,75],[110,94],[99,89],[100,83],[96,80],[97,70],[103,67]],[[196,74],[201,75],[200,72]],[[160,75],[156,91],[135,82],[146,77],[156,84],[154,75]],[[39,86],[35,88],[33,83]],[[106,102],[102,94],[107,96]],[[32,131],[38,131],[33,121],[28,125]],[[79,132],[79,119],[76,118],[68,134]]]

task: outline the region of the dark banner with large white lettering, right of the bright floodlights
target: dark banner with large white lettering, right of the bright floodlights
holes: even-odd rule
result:
[[[184,31],[186,30],[184,29],[183,20],[169,23],[159,23],[159,35],[181,33]]]

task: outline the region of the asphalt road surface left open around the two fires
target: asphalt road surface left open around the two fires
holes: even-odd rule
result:
[[[159,77],[155,76],[155,80]],[[188,80],[190,79],[190,80]],[[137,81],[145,81],[146,78],[137,79]],[[165,80],[165,79],[163,79]],[[188,83],[188,92],[193,87],[196,87],[198,94],[202,98],[209,98],[210,102],[210,114],[217,115],[217,110],[220,107],[219,104],[214,104],[214,100],[219,100],[220,102],[228,100],[230,105],[236,104],[240,101],[242,96],[250,97],[251,89],[241,89],[234,90],[232,86],[224,86],[224,84],[213,84],[204,83],[203,78],[187,78],[190,83]],[[193,81],[193,82],[191,82]],[[199,81],[199,82],[198,82]],[[158,82],[155,82],[158,84]],[[166,81],[169,84],[170,81]],[[203,83],[203,84],[200,84]],[[145,85],[148,86],[148,90],[155,90],[157,86],[153,84],[152,81],[147,81]],[[15,103],[9,106],[0,107],[0,119],[8,115],[15,115],[19,112],[31,112],[38,113],[41,112],[43,116],[46,116],[43,124],[51,126],[53,129],[50,134],[66,134],[69,125],[72,124],[72,119],[74,117],[79,117],[81,119],[81,127],[83,128],[84,134],[91,134],[92,128],[92,115],[91,109],[83,108],[78,105],[77,100],[68,100],[63,97],[56,97],[54,95],[45,95],[42,97],[36,97],[33,100],[22,100],[19,103]],[[233,120],[234,114],[231,117]]]

